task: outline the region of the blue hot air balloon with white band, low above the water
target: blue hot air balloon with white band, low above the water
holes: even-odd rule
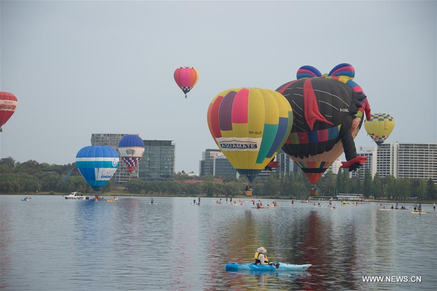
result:
[[[85,146],[76,155],[76,167],[97,194],[118,168],[118,153],[109,146]]]

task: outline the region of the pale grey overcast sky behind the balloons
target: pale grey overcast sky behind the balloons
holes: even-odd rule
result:
[[[1,91],[17,96],[1,157],[65,164],[92,133],[173,140],[176,171],[216,148],[225,89],[276,89],[302,65],[350,63],[387,142],[437,141],[436,1],[1,1]],[[188,99],[173,71],[194,66]],[[373,146],[363,129],[357,146]]]

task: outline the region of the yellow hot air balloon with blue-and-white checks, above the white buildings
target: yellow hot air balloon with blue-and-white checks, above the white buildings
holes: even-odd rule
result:
[[[381,146],[394,129],[394,119],[387,113],[374,113],[364,123],[364,128],[372,140]]]

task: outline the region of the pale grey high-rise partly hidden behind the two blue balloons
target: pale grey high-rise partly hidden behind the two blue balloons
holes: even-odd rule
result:
[[[91,134],[91,146],[110,146],[118,152],[118,142],[123,136],[128,134],[132,133],[93,133]],[[118,152],[118,154],[120,153]],[[120,160],[114,178],[116,179],[116,185],[129,181],[131,178],[138,178],[138,165],[131,174],[126,167],[126,164]]]

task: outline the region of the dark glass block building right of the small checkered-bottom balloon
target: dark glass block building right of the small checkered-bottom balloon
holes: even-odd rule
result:
[[[175,144],[172,141],[145,140],[144,155],[138,162],[138,178],[171,180],[174,175]]]

